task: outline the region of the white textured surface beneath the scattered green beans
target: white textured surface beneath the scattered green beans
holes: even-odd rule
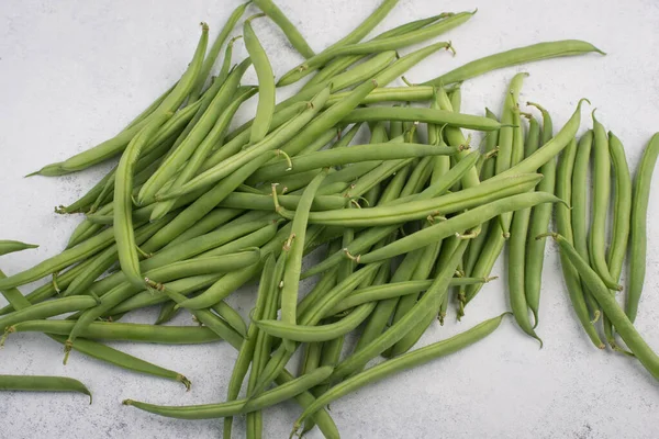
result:
[[[377,0],[280,0],[282,9],[316,50],[349,32]],[[437,54],[409,74],[425,80],[480,56],[540,41],[581,38],[608,56],[589,55],[513,67],[468,81],[463,112],[500,109],[506,82],[517,71],[530,77],[522,102],[540,102],[558,128],[582,97],[624,142],[636,167],[641,148],[659,130],[659,3],[655,0],[516,1],[402,0],[377,29],[440,11],[479,8],[467,24],[446,35],[458,55]],[[81,195],[108,167],[60,178],[22,179],[44,164],[64,159],[115,134],[132,115],[175,80],[196,45],[198,22],[211,35],[237,1],[3,0],[0,2],[0,216],[1,237],[41,244],[1,260],[15,273],[60,251],[79,217],[53,213]],[[252,9],[252,11],[254,11]],[[269,22],[255,22],[276,75],[300,57]],[[236,44],[234,59],[245,56]],[[250,80],[255,79],[249,71]],[[291,88],[292,89],[292,88]],[[287,92],[290,92],[287,90]],[[242,111],[242,117],[253,106]],[[582,130],[590,124],[584,112]],[[659,178],[652,199],[659,194]],[[659,204],[650,204],[650,218]],[[659,349],[659,227],[649,222],[646,289],[638,329]],[[491,337],[451,357],[365,387],[332,405],[344,438],[656,438],[659,385],[635,361],[597,351],[583,335],[563,288],[556,248],[548,245],[539,334],[545,348],[506,320]],[[494,273],[502,274],[498,263]],[[505,279],[505,277],[503,277]],[[446,338],[507,307],[504,281],[485,286],[461,324],[432,327],[422,344]],[[26,285],[24,292],[34,285]],[[254,293],[232,296],[243,314]],[[0,304],[3,304],[0,299]],[[131,320],[152,322],[157,309]],[[190,324],[189,316],[177,322]],[[14,335],[0,351],[0,373],[62,374],[80,379],[94,393],[89,406],[78,395],[2,394],[1,438],[212,438],[222,420],[180,421],[124,407],[132,397],[160,404],[202,404],[224,398],[236,352],[226,344],[199,347],[122,345],[122,349],[185,373],[192,392],[150,376],[72,354],[41,335]],[[266,412],[267,438],[287,437],[299,408]],[[242,420],[236,434],[244,432]],[[310,437],[317,438],[313,431]]]

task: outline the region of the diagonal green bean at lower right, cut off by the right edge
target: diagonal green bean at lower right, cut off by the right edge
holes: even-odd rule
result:
[[[611,323],[634,356],[636,356],[656,380],[659,380],[659,357],[657,357],[640,334],[638,334],[634,324],[632,324],[625,312],[621,308],[615,296],[611,294],[608,286],[604,283],[600,274],[590,267],[588,261],[579,256],[574,247],[565,237],[556,233],[547,235],[551,236],[558,243],[561,255],[565,255],[569,259],[583,278],[585,284],[602,307],[602,311],[611,319]]]

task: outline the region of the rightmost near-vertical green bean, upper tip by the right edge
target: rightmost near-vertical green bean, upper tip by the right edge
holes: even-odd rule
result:
[[[652,170],[659,155],[659,134],[655,134],[643,153],[634,180],[632,201],[632,235],[629,239],[629,281],[627,282],[626,312],[629,320],[636,319],[643,292],[647,255],[647,215]],[[616,327],[617,329],[617,327]]]

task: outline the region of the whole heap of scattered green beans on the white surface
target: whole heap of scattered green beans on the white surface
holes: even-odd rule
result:
[[[76,350],[189,389],[182,374],[98,340],[228,342],[238,354],[225,402],[124,404],[180,419],[225,418],[224,438],[231,438],[232,418],[245,414],[247,438],[255,439],[263,436],[265,408],[295,399],[302,414],[293,431],[317,426],[325,437],[338,438],[324,409],[330,403],[483,339],[506,314],[541,347],[543,238],[552,237],[585,336],[597,349],[605,348],[604,340],[629,353],[659,379],[659,358],[633,324],[640,311],[659,134],[633,182],[622,140],[594,111],[592,130],[577,138],[585,99],[558,130],[548,110],[520,102],[526,72],[511,78],[500,114],[460,112],[465,80],[539,59],[604,53],[577,40],[537,43],[421,85],[387,87],[439,49],[455,54],[447,42],[402,57],[398,49],[435,38],[477,13],[440,13],[364,42],[396,3],[383,0],[322,52],[311,48],[271,0],[239,5],[209,50],[209,25],[202,23],[192,59],[174,86],[116,136],[33,173],[63,176],[119,159],[79,200],[56,209],[85,215],[66,250],[9,277],[0,271],[8,302],[0,309],[0,345],[19,337],[11,334],[43,333],[65,346],[65,363]],[[259,11],[244,21],[244,38],[230,38],[248,9]],[[270,64],[275,55],[254,29],[257,18],[278,25],[305,58],[278,80]],[[233,47],[241,42],[248,57],[233,65]],[[222,66],[212,76],[223,47]],[[250,66],[257,85],[242,86]],[[297,93],[277,102],[278,87],[309,76]],[[254,95],[254,119],[231,131]],[[350,145],[367,128],[369,140]],[[483,138],[483,151],[465,130]],[[552,216],[556,232],[549,229]],[[35,247],[1,240],[0,256]],[[308,267],[304,258],[321,247],[326,256]],[[504,250],[511,312],[411,351],[451,308],[458,320],[469,312],[483,284],[496,279],[491,270]],[[627,255],[622,306],[615,293]],[[301,281],[313,275],[319,279],[303,294]],[[16,290],[42,279],[48,282],[25,295]],[[258,293],[245,322],[224,300],[253,280]],[[160,305],[154,324],[120,322],[153,305]],[[199,326],[164,326],[179,312]],[[357,342],[342,354],[345,338],[353,336]],[[298,349],[304,361],[295,375],[287,364]],[[380,356],[387,360],[367,368]],[[91,398],[71,379],[0,375],[0,391],[12,390]]]

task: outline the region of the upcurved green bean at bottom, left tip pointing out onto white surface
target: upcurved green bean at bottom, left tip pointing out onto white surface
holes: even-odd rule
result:
[[[258,0],[257,0],[258,1]],[[313,387],[332,373],[332,368],[324,367],[313,372],[297,378],[279,387],[264,392],[253,398],[238,399],[221,404],[191,405],[191,406],[158,406],[141,403],[133,399],[125,399],[124,405],[131,405],[145,412],[160,416],[167,416],[178,419],[212,419],[226,416],[235,416],[254,410],[260,410],[266,407],[279,404],[283,401]]]

